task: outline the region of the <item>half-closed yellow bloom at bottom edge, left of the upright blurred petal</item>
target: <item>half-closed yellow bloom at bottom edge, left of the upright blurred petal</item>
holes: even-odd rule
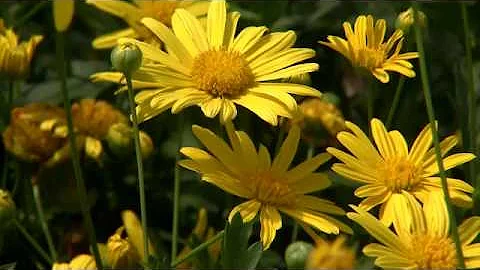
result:
[[[117,229],[107,242],[107,263],[114,269],[135,268],[139,266],[140,257],[135,247],[122,238],[125,228]]]

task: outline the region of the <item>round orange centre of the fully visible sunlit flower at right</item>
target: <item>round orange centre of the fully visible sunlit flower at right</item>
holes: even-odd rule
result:
[[[421,180],[421,171],[403,157],[386,159],[379,169],[380,177],[392,192],[411,190]]]

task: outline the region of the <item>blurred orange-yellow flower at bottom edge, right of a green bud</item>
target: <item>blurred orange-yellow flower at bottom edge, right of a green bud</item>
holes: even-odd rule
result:
[[[347,239],[338,236],[334,241],[316,239],[316,247],[310,252],[306,269],[354,269],[355,251],[345,245]]]

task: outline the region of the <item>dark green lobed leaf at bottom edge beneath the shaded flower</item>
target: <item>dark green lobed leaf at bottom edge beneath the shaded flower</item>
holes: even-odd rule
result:
[[[221,263],[224,269],[254,269],[263,252],[262,244],[256,242],[248,247],[252,223],[243,223],[240,213],[225,226]]]

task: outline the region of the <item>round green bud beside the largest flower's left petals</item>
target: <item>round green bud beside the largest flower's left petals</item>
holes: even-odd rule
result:
[[[124,43],[116,46],[110,54],[110,60],[115,70],[131,76],[142,65],[142,51],[137,45]]]

